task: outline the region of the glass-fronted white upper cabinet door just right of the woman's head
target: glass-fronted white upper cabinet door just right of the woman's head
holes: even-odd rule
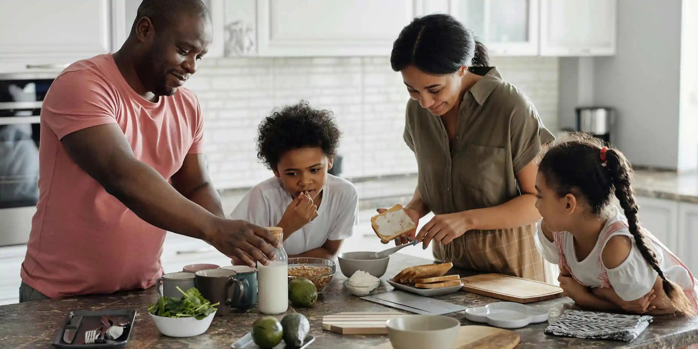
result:
[[[492,56],[538,54],[538,0],[450,0],[449,12]]]

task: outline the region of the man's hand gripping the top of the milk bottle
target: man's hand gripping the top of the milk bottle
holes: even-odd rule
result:
[[[207,241],[218,251],[255,267],[255,261],[268,265],[276,258],[272,246],[281,244],[272,232],[246,221],[218,218],[214,230],[207,234]]]

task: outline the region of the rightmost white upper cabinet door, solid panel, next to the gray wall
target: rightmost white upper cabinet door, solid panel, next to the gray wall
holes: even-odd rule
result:
[[[542,56],[616,53],[616,0],[540,0]]]

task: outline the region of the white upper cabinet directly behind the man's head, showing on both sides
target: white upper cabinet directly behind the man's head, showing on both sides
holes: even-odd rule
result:
[[[117,51],[124,45],[126,38],[131,34],[131,27],[138,6],[142,0],[112,0],[112,51]],[[211,13],[212,42],[206,57],[223,57],[223,0],[202,0]],[[231,6],[234,6],[231,3]]]

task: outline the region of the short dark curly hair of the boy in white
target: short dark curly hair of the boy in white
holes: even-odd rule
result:
[[[286,151],[320,148],[328,158],[336,155],[341,132],[329,110],[317,110],[308,102],[286,105],[266,117],[258,127],[257,157],[276,170]]]

